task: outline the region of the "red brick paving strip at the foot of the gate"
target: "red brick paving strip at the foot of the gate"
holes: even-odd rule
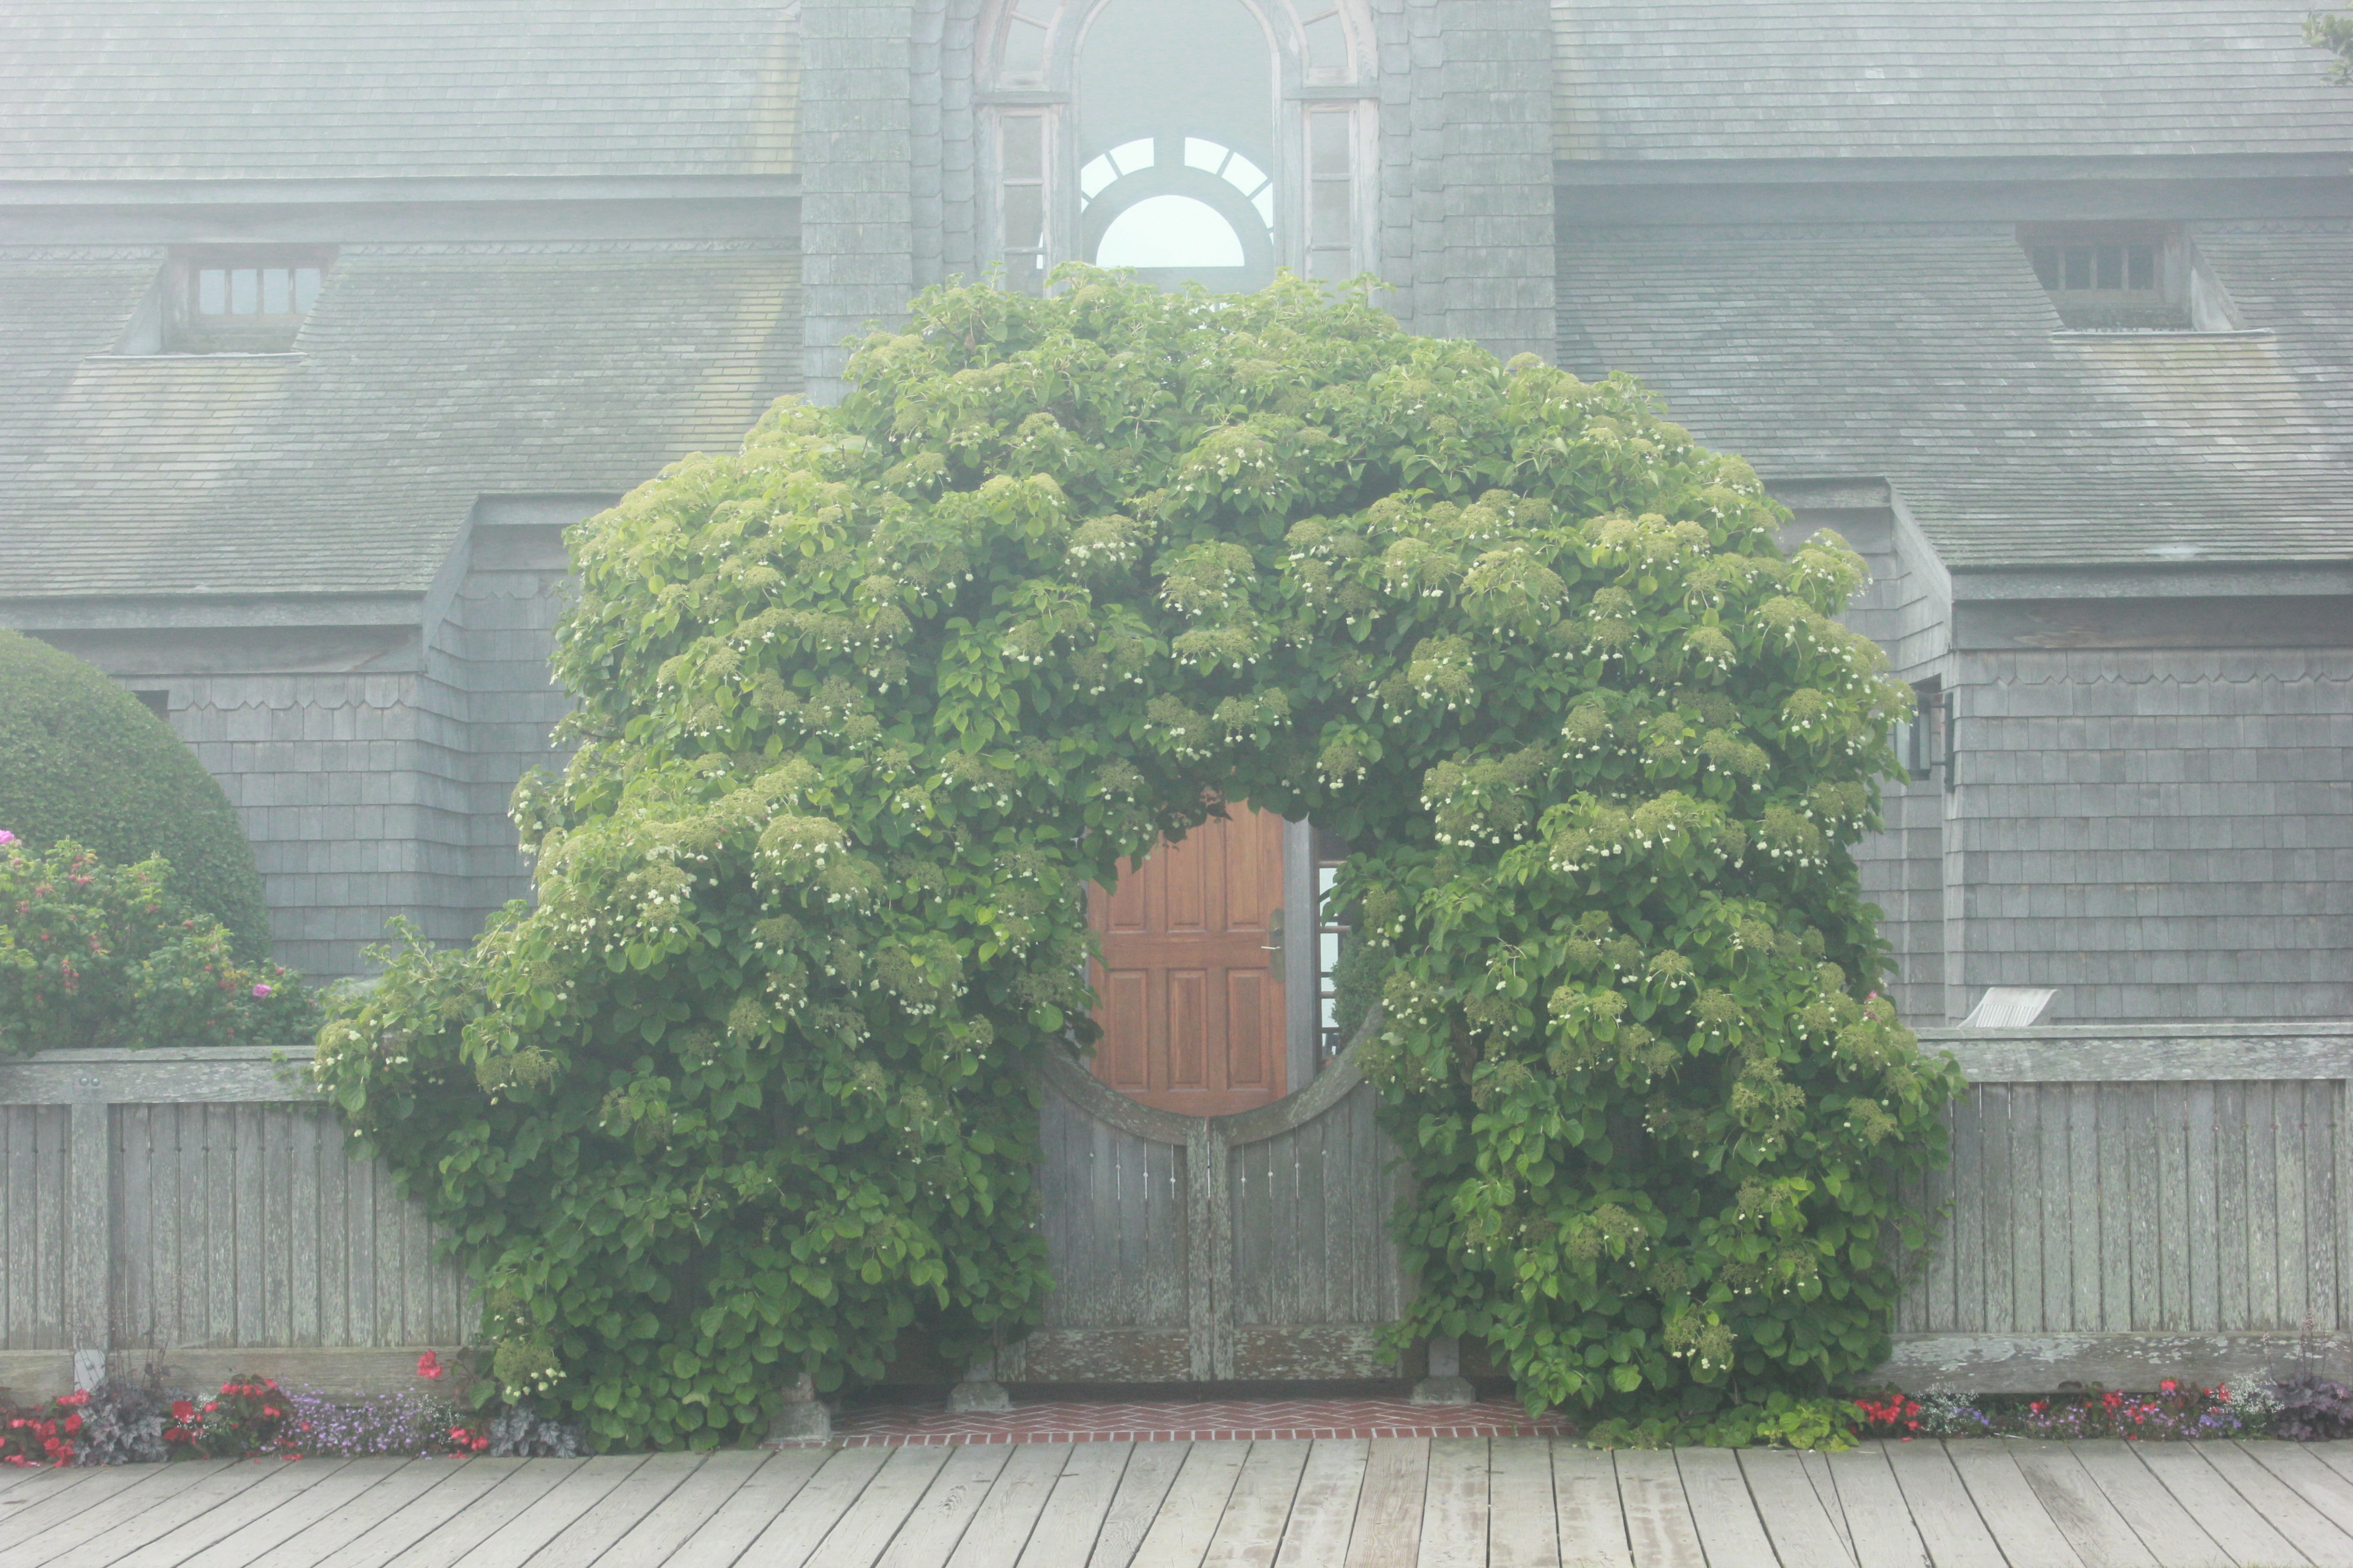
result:
[[[1515,1403],[1417,1406],[1405,1399],[1038,1401],[998,1415],[944,1406],[856,1406],[833,1422],[845,1448],[939,1443],[1221,1443],[1299,1436],[1567,1436],[1560,1415]]]

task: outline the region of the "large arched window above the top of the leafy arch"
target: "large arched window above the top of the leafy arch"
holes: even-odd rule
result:
[[[1360,0],[1000,0],[984,28],[995,252],[1257,289],[1369,266]]]

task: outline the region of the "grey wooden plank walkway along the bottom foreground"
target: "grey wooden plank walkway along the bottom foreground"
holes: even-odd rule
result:
[[[0,1474],[0,1568],[2353,1568],[2353,1443],[1009,1443]]]

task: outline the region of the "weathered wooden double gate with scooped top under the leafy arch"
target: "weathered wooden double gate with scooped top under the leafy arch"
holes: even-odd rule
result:
[[[1374,1338],[1405,1309],[1388,1234],[1405,1178],[1360,1051],[1231,1117],[1139,1105],[1052,1058],[1038,1164],[1054,1293],[998,1378],[1395,1378]]]

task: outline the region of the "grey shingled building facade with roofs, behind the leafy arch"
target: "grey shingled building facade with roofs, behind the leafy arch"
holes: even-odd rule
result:
[[[2353,1016],[2353,89],[2301,0],[21,0],[0,625],[280,957],[527,886],[565,524],[918,289],[1374,273],[1871,562],[1920,1023]]]

